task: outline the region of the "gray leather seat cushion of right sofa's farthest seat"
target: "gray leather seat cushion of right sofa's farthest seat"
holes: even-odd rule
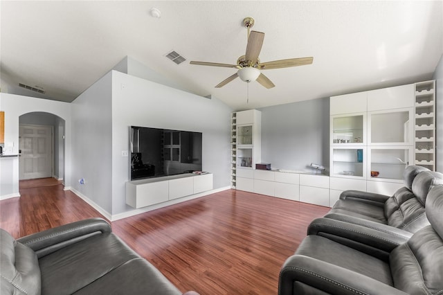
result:
[[[350,199],[339,199],[329,213],[345,214],[383,224],[388,223],[383,207]],[[327,217],[327,214],[325,217]]]

